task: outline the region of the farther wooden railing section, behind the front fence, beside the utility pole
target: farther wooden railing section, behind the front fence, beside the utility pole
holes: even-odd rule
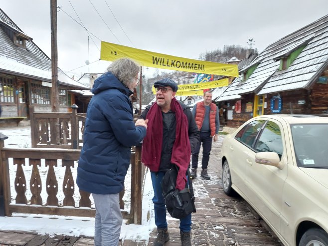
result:
[[[86,114],[34,112],[30,110],[31,141],[33,148],[81,149]]]

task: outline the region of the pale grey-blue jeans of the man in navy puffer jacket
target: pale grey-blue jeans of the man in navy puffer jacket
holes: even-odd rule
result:
[[[118,246],[123,222],[119,193],[92,193],[92,197],[96,206],[95,246]]]

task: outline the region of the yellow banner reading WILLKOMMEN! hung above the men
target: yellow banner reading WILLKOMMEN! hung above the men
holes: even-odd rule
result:
[[[237,65],[182,58],[101,41],[101,60],[114,61],[123,57],[132,58],[148,67],[231,77],[239,76]]]

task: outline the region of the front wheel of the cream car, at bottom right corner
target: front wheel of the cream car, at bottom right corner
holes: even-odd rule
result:
[[[319,228],[311,228],[303,234],[299,246],[328,246],[328,234]]]

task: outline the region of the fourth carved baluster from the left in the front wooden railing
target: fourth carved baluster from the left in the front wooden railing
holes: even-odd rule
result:
[[[62,167],[65,169],[65,177],[63,181],[63,193],[65,195],[63,206],[75,207],[74,195],[74,179],[71,171],[71,167],[74,167],[73,160],[62,160]]]

